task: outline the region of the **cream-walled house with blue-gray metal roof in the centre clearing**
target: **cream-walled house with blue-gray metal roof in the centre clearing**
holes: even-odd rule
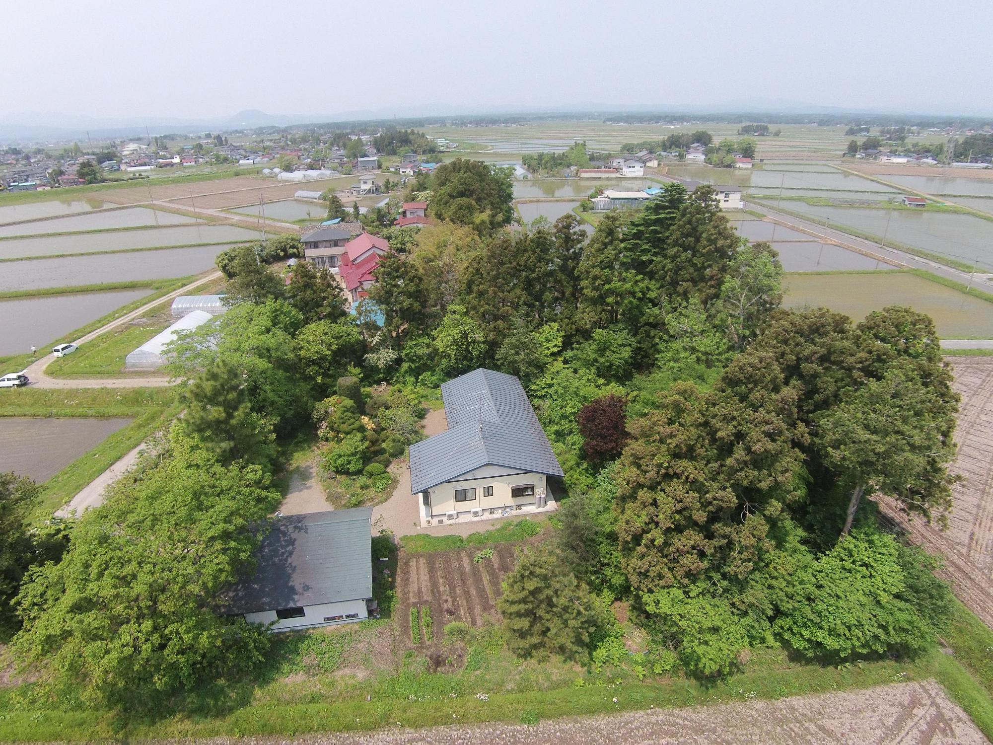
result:
[[[441,386],[448,430],[410,446],[410,491],[422,526],[554,510],[562,477],[513,375],[483,368]]]

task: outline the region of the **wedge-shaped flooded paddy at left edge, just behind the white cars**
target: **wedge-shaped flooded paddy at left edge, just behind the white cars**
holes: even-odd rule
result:
[[[32,345],[44,351],[51,343],[72,341],[65,339],[70,332],[151,292],[139,287],[0,300],[0,317],[5,319],[0,325],[0,356],[31,352]]]

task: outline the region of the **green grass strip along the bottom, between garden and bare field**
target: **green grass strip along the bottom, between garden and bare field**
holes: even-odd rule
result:
[[[256,680],[197,691],[183,713],[128,716],[72,705],[70,697],[44,703],[27,685],[0,689],[0,710],[7,712],[0,718],[0,739],[293,736],[453,721],[536,723],[558,716],[782,698],[928,677],[944,684],[987,735],[993,725],[986,691],[955,659],[939,652],[913,663],[886,660],[822,668],[793,663],[781,650],[759,650],[744,671],[703,684],[677,675],[638,680],[624,667],[606,666],[596,673],[560,661],[520,661],[502,648],[496,630],[483,629],[465,645],[447,648],[450,659],[465,661],[459,671],[429,671],[416,653],[376,670],[384,662],[380,641],[390,623],[281,635]],[[360,661],[362,679],[349,674]],[[489,699],[477,698],[477,693],[487,693]]]

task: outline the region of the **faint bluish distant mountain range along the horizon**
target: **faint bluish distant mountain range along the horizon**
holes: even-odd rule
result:
[[[649,113],[669,112],[684,114],[719,114],[719,113],[766,113],[766,114],[852,114],[853,116],[869,116],[872,114],[894,115],[940,115],[936,111],[901,112],[896,110],[870,110],[843,106],[822,106],[805,101],[792,101],[780,98],[752,98],[725,101],[718,104],[605,104],[597,102],[581,102],[563,106],[502,106],[456,107],[446,103],[419,103],[414,105],[399,105],[394,109],[361,109],[339,111],[335,113],[318,113],[307,115],[270,114],[258,109],[245,109],[227,117],[187,119],[174,116],[130,116],[130,117],[96,117],[79,114],[27,112],[6,114],[0,116],[0,143],[15,142],[46,142],[63,141],[85,138],[88,132],[91,138],[130,138],[166,134],[171,132],[217,132],[232,129],[254,129],[264,126],[291,126],[299,124],[315,124],[336,121],[367,121],[382,120],[394,117],[416,118],[437,116],[509,116],[537,114],[594,114],[610,113]],[[971,116],[977,114],[960,114]]]

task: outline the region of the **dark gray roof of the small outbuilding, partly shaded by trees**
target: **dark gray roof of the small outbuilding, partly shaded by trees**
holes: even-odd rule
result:
[[[372,597],[372,508],[276,518],[255,574],[228,595],[230,613]]]

